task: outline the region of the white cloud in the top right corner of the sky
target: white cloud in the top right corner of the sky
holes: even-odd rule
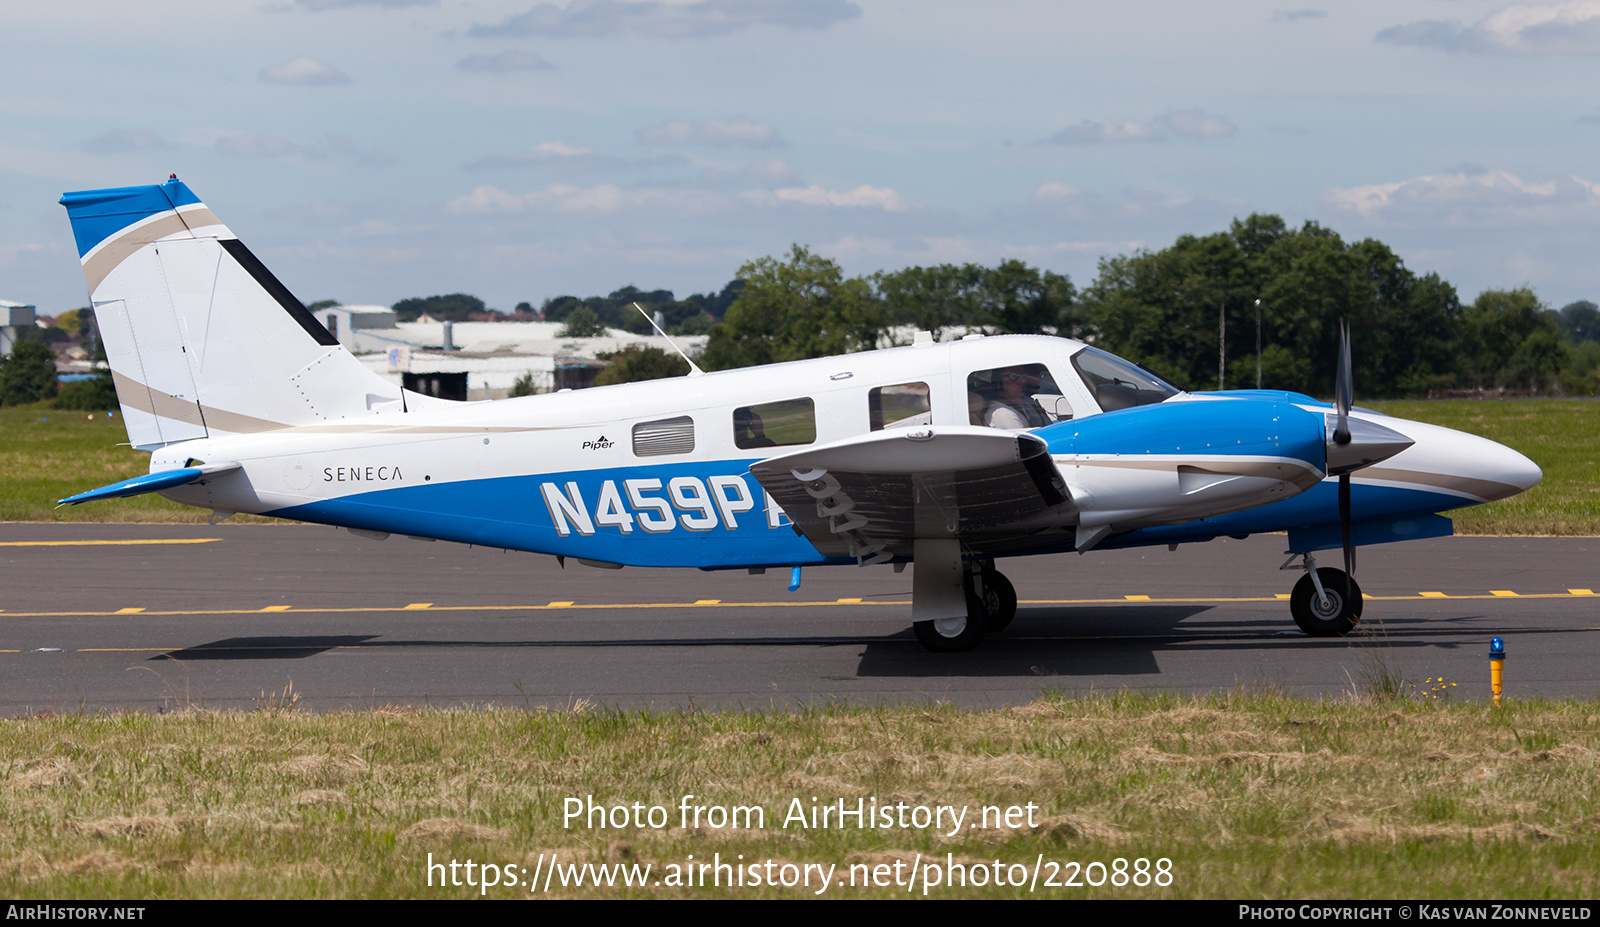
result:
[[[1374,38],[1472,54],[1600,54],[1600,0],[1517,3],[1472,26],[1418,19],[1384,29]]]

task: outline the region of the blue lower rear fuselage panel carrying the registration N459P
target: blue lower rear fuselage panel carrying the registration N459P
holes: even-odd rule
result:
[[[795,533],[787,519],[770,527],[766,495],[746,469],[752,463],[755,461],[698,461],[413,485],[266,514],[634,567],[778,567],[827,562],[810,541]],[[710,496],[710,477],[741,479],[752,506],[746,511],[725,511],[730,506],[718,506],[715,496]],[[666,516],[658,506],[634,504],[626,480],[640,479],[661,482],[659,488],[640,490],[640,498],[666,501],[672,509],[670,528],[645,528],[645,519],[664,524]],[[683,484],[680,496],[691,503],[688,508],[674,500],[670,484],[675,479],[690,480]],[[634,520],[630,532],[597,520],[606,482],[618,490],[619,511]],[[570,495],[568,484],[576,484],[576,498]],[[579,522],[584,519],[560,512],[560,498],[570,506],[582,508],[594,533],[582,533]],[[707,501],[694,504],[702,498]],[[736,528],[725,527],[730,514]],[[565,535],[557,520],[566,528]],[[690,528],[685,522],[710,527]]]

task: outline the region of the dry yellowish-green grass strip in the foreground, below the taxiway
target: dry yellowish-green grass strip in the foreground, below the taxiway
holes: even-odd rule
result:
[[[43,716],[0,724],[0,892],[755,898],[819,887],[816,874],[810,887],[750,885],[749,871],[744,887],[726,885],[731,873],[720,889],[672,884],[669,866],[682,874],[742,855],[741,865],[773,860],[778,876],[786,863],[832,865],[827,897],[1597,897],[1600,706],[1429,698],[1440,692],[1450,690],[1421,700],[1045,698],[976,712],[328,716],[267,693],[251,714]],[[662,826],[563,826],[566,799],[587,796],[659,805]],[[749,818],[712,826],[710,817],[683,826],[683,796],[758,805],[765,828]],[[950,818],[939,831],[784,826],[795,801],[810,813],[840,799],[944,804],[968,817],[954,834]],[[973,828],[982,807],[997,809],[989,823],[1002,826]],[[1014,826],[1003,826],[1010,809]],[[437,871],[429,887],[429,853],[493,861],[496,879],[504,869],[520,884],[446,887]],[[552,853],[560,865],[650,865],[651,874],[600,889],[557,877],[530,892]],[[918,855],[941,881],[954,861],[970,881],[982,868],[990,884],[933,884],[922,869],[907,890]],[[1144,873],[1142,885],[1109,881],[1118,858],[1126,881]],[[893,879],[896,861],[899,884],[862,884]],[[994,885],[995,861],[1003,881],[1024,884]],[[1170,885],[1157,884],[1163,873]],[[1053,876],[1080,885],[1048,885]]]

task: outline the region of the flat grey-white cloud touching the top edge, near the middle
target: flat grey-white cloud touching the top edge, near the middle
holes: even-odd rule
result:
[[[467,35],[546,35],[555,38],[605,38],[635,32],[654,38],[726,35],[750,26],[827,29],[856,19],[861,6],[850,0],[571,0],[566,6],[539,3],[493,26],[474,24]]]

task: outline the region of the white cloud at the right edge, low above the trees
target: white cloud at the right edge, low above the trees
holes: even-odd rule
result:
[[[1458,170],[1392,184],[1330,187],[1323,203],[1389,226],[1544,226],[1600,219],[1600,184],[1576,176],[1528,183]]]

